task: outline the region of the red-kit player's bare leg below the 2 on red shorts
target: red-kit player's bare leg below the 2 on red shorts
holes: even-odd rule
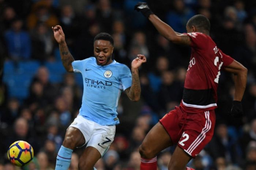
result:
[[[169,162],[168,170],[184,170],[191,158],[182,148],[177,146]]]

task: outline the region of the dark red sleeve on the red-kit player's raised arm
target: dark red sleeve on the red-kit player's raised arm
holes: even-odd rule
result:
[[[188,35],[191,38],[190,46],[193,48],[202,48],[206,44],[206,35],[202,33],[184,33],[184,35]]]

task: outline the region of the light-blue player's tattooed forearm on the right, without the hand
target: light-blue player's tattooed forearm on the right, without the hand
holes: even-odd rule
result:
[[[139,79],[139,70],[132,68],[132,86],[129,91],[129,98],[131,101],[139,101],[140,99],[140,79]]]

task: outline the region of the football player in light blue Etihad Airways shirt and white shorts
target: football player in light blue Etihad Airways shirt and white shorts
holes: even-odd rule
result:
[[[116,109],[121,92],[124,91],[131,101],[140,99],[138,68],[146,62],[146,57],[139,54],[132,61],[130,71],[126,65],[112,60],[114,42],[111,35],[99,33],[94,38],[94,57],[75,61],[61,26],[54,26],[52,30],[59,43],[63,66],[68,72],[82,73],[84,88],[82,107],[67,129],[55,170],[68,170],[73,150],[85,144],[78,167],[79,170],[93,170],[114,140],[119,124]]]

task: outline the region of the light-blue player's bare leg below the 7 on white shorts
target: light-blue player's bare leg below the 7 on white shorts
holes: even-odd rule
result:
[[[101,154],[94,147],[86,147],[79,158],[79,170],[93,170],[95,163],[101,158]]]

